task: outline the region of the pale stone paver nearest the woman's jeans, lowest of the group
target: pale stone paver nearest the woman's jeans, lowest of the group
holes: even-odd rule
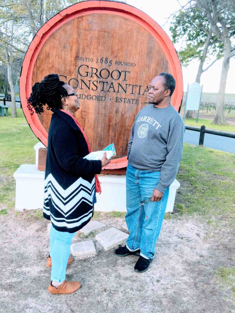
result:
[[[92,240],[71,244],[70,250],[77,259],[85,259],[97,255],[96,247]]]

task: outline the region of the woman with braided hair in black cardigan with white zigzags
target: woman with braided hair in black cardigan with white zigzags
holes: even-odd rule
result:
[[[76,232],[93,216],[95,191],[101,192],[96,174],[110,160],[106,153],[101,160],[87,160],[89,142],[73,114],[79,109],[79,98],[57,74],[44,77],[34,84],[28,99],[31,114],[42,113],[44,106],[52,110],[48,131],[48,150],[45,170],[44,218],[51,221],[50,255],[51,294],[69,294],[81,287],[78,281],[66,281],[70,245]]]

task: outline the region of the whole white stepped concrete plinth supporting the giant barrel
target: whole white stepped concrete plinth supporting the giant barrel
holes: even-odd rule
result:
[[[42,144],[37,145],[39,149]],[[16,180],[16,211],[42,209],[45,172],[38,171],[38,165],[23,164],[13,176]],[[97,203],[95,204],[95,211],[126,212],[126,176],[99,176],[99,180],[101,182],[102,193],[96,194]],[[173,212],[175,194],[179,187],[180,183],[175,179],[170,185],[166,212]]]

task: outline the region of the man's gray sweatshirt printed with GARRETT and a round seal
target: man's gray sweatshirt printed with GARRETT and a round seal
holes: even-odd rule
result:
[[[144,107],[137,114],[128,142],[128,162],[141,171],[160,171],[156,189],[164,192],[174,181],[182,159],[185,126],[168,105]]]

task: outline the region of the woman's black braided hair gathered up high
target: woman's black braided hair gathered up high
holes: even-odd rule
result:
[[[32,108],[36,113],[41,114],[44,105],[47,105],[47,110],[62,109],[61,98],[68,95],[64,85],[66,84],[59,79],[57,74],[49,74],[40,83],[35,83],[27,100],[31,114],[34,113]]]

